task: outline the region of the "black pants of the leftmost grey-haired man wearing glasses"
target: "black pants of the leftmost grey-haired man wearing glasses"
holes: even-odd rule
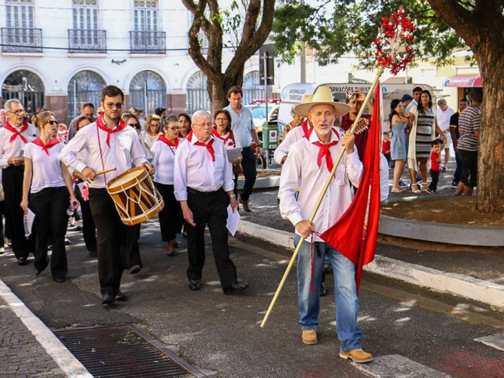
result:
[[[35,249],[36,231],[32,229],[30,237],[28,239],[25,237],[24,214],[20,206],[23,199],[24,170],[24,165],[17,167],[10,165],[2,171],[3,193],[6,196],[6,229],[12,240],[12,251],[18,259],[28,258],[30,252]]]

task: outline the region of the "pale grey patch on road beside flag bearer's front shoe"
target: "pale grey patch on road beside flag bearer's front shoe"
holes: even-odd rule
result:
[[[400,355],[386,355],[375,357],[372,362],[368,364],[355,364],[355,368],[366,372],[376,378],[449,378],[439,370],[434,370],[428,366],[419,364],[412,361],[407,357]]]

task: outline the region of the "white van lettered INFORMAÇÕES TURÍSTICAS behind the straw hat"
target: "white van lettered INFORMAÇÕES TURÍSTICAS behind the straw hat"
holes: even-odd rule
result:
[[[282,90],[280,94],[280,109],[278,111],[278,121],[279,123],[285,125],[291,122],[291,109],[294,105],[297,105],[303,101],[305,96],[314,94],[318,87],[326,86],[330,88],[333,92],[333,97],[335,101],[341,103],[346,103],[346,93],[349,90],[360,91],[366,94],[371,87],[370,83],[293,83],[289,84]],[[404,94],[413,93],[414,87],[422,87],[424,90],[428,90],[432,95],[432,107],[436,107],[436,93],[426,84],[388,84],[381,83],[381,92],[383,92],[384,98],[384,132],[390,130],[390,123],[388,122],[388,114],[390,114],[390,101],[395,98],[399,100]],[[374,98],[374,97],[373,97]],[[366,110],[367,112],[367,110]]]

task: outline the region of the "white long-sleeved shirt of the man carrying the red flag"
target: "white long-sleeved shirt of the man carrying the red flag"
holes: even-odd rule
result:
[[[330,141],[333,140],[338,140],[335,132],[331,132]],[[325,157],[322,159],[321,167],[317,165],[319,147],[313,145],[317,141],[319,141],[317,133],[312,132],[309,140],[302,138],[292,145],[282,169],[279,190],[280,214],[282,218],[290,220],[293,225],[310,218],[329,176]],[[340,149],[342,149],[341,143],[330,147],[333,162]],[[329,188],[313,220],[317,233],[323,233],[332,227],[348,209],[353,198],[353,188],[350,187],[349,182],[358,187],[361,174],[362,163],[359,160],[357,148],[354,148],[352,154],[344,153],[336,169],[336,177],[330,181]],[[297,188],[300,188],[300,193],[296,201],[294,194]],[[315,234],[313,240],[323,241]],[[310,240],[306,239],[306,241]]]

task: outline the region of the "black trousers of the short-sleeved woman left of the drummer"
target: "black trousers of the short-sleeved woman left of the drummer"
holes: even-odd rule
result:
[[[49,187],[30,194],[30,209],[36,219],[35,268],[43,270],[47,266],[48,240],[51,240],[53,278],[65,277],[68,273],[65,233],[69,201],[70,195],[66,187]]]

